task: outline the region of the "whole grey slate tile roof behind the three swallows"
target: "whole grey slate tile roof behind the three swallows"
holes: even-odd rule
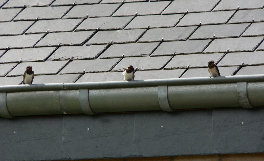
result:
[[[0,83],[263,74],[264,0],[0,0]],[[243,63],[242,63],[243,62]]]

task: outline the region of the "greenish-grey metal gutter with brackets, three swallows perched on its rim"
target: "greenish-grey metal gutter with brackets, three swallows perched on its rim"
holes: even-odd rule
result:
[[[0,86],[0,116],[264,105],[264,74]]]

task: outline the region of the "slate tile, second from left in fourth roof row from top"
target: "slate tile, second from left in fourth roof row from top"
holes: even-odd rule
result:
[[[48,33],[36,46],[58,46],[59,43],[60,45],[81,45],[92,34],[93,31]]]

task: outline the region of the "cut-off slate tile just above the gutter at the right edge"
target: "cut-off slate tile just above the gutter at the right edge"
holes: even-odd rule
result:
[[[264,65],[242,67],[235,75],[264,74]]]

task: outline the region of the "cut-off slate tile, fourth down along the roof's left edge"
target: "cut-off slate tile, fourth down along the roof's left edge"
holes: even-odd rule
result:
[[[10,48],[33,47],[42,36],[44,34],[0,36],[0,49],[6,49],[9,45]]]

